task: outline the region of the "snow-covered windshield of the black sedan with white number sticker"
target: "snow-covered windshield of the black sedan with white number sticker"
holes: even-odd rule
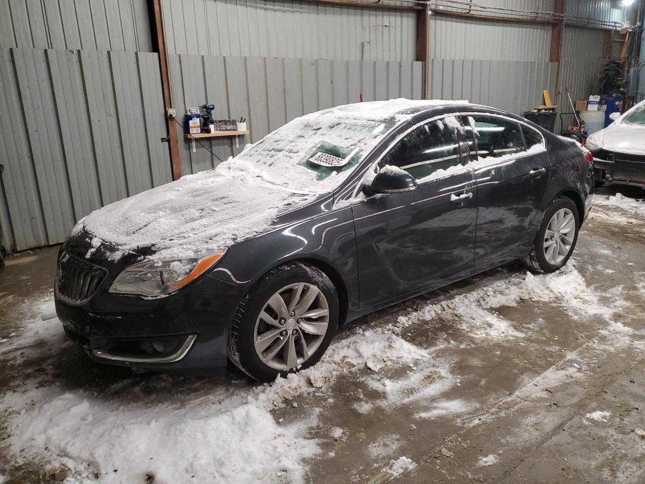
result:
[[[392,126],[335,109],[316,112],[293,119],[229,163],[293,192],[330,192]]]

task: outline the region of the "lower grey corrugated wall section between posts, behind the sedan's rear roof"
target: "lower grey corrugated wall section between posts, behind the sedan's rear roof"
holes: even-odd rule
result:
[[[430,68],[432,99],[468,99],[523,114],[542,104],[542,90],[555,85],[557,64],[435,60]]]

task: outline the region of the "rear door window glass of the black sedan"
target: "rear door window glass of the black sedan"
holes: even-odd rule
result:
[[[515,121],[473,114],[468,117],[468,123],[477,140],[479,158],[498,158],[525,150],[520,124]]]

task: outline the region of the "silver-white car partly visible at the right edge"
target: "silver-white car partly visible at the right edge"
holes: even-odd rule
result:
[[[607,181],[645,187],[645,101],[606,128],[591,134],[596,187]]]

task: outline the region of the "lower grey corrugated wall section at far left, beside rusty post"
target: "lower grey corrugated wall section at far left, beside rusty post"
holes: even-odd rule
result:
[[[92,210],[170,181],[156,54],[0,49],[0,76],[5,247],[62,242]]]

